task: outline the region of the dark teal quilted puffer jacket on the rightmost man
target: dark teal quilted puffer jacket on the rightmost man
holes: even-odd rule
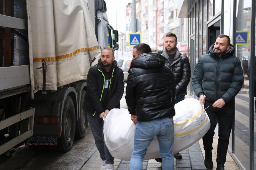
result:
[[[232,45],[222,57],[214,53],[213,47],[214,44],[208,51],[210,54],[198,59],[191,79],[192,87],[198,97],[203,94],[207,101],[215,102],[222,98],[228,103],[242,88],[243,69],[239,58],[233,56]]]

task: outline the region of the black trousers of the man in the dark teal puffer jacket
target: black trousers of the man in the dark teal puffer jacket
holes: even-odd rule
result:
[[[209,116],[211,126],[209,131],[203,137],[203,149],[205,151],[211,151],[213,149],[213,135],[214,129],[217,124],[217,119],[219,123],[218,130],[218,148],[217,148],[217,158],[216,162],[218,164],[224,165],[227,157],[227,150],[229,144],[229,135],[232,129],[233,119],[234,119],[234,103],[226,103],[222,108],[212,107],[213,102],[205,101],[204,108],[207,115]],[[209,107],[208,107],[209,106]],[[207,108],[208,107],[208,108]]]

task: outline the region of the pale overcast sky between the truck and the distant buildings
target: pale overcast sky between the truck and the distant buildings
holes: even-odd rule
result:
[[[124,32],[126,30],[126,5],[132,0],[105,0],[105,2],[110,25],[118,32]]]

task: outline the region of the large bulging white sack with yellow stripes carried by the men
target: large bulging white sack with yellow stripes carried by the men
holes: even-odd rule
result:
[[[193,98],[175,104],[173,153],[178,153],[200,140],[210,128],[210,120],[203,105]],[[128,109],[112,109],[104,119],[104,140],[111,155],[129,161],[133,151],[136,125]],[[161,157],[157,138],[147,148],[143,160]]]

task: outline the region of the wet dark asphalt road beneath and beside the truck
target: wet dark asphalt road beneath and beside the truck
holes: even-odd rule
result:
[[[79,170],[97,151],[89,127],[84,138],[75,139],[69,152],[21,146],[8,154],[0,155],[0,170]]]

